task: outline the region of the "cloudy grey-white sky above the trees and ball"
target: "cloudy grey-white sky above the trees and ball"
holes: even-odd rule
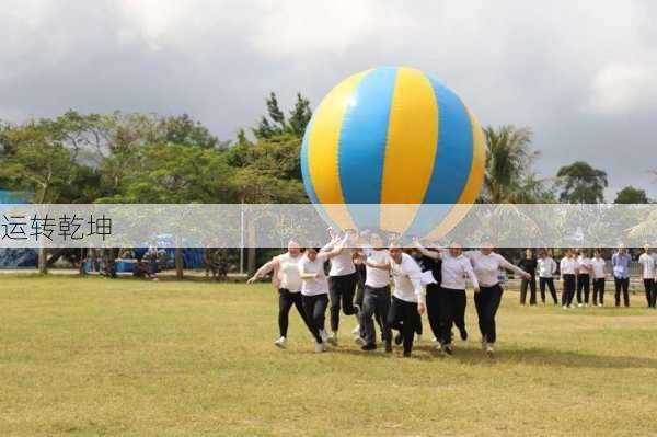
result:
[[[316,105],[377,66],[425,70],[483,125],[534,133],[537,170],[586,160],[607,200],[657,198],[657,2],[4,0],[0,119],[187,113],[221,139],[275,91]]]

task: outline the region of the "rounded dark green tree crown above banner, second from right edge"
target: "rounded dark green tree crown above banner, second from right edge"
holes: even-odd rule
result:
[[[568,204],[598,204],[604,202],[609,185],[607,173],[584,161],[558,169],[560,200]]]

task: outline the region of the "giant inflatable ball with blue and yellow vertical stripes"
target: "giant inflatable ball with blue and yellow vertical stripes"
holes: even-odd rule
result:
[[[306,191],[330,222],[424,238],[439,238],[462,219],[484,165],[484,136],[472,112],[438,80],[405,67],[338,83],[315,110],[301,147]]]

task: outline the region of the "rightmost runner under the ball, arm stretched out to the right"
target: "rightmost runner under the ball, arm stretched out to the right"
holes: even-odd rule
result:
[[[482,334],[482,348],[488,355],[495,352],[497,340],[495,315],[502,302],[503,288],[499,281],[499,271],[506,268],[520,275],[522,279],[530,279],[531,274],[509,263],[504,256],[493,252],[493,245],[484,243],[479,251],[463,253],[472,263],[474,276],[479,280],[479,292],[474,294],[474,306],[479,318],[479,327]]]

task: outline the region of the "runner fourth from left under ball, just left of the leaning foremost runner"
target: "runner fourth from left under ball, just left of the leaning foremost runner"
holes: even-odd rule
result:
[[[381,327],[381,338],[385,343],[385,352],[392,352],[392,332],[388,324],[390,311],[390,272],[371,267],[367,261],[376,264],[385,264],[390,258],[390,252],[379,233],[370,235],[370,243],[364,248],[365,266],[365,291],[362,297],[362,309],[360,326],[362,327],[362,350],[374,350],[377,348],[377,332],[374,330],[376,318]]]

